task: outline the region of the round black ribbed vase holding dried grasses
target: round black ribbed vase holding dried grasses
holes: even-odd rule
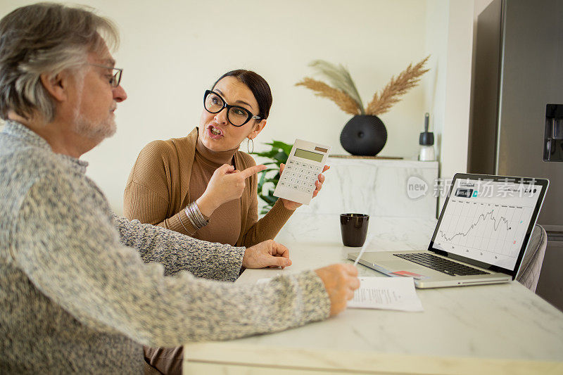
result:
[[[352,155],[375,156],[387,141],[387,129],[379,117],[355,115],[346,122],[340,144]]]

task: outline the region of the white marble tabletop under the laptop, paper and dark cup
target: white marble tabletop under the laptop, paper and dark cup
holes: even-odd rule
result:
[[[435,220],[370,218],[369,233],[375,238],[367,250],[426,248],[435,224]],[[293,215],[276,239],[289,247],[293,265],[283,270],[246,270],[236,282],[253,283],[346,261],[346,253],[357,248],[342,246],[339,225],[339,217]],[[384,277],[358,267],[361,275]],[[424,312],[348,309],[298,329],[189,344],[186,359],[194,366],[220,362],[262,369],[563,373],[563,313],[521,284],[417,289],[417,294]]]

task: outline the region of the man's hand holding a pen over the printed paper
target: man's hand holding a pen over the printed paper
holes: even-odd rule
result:
[[[360,288],[358,269],[350,264],[329,265],[315,269],[330,298],[330,316],[346,309],[346,301],[354,298],[354,291]]]

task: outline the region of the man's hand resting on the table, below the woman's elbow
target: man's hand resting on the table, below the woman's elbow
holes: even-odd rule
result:
[[[242,258],[242,267],[246,268],[284,268],[288,266],[291,266],[288,248],[272,240],[246,248]]]

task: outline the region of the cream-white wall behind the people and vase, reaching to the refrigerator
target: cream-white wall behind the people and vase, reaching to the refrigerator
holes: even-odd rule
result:
[[[0,16],[32,2],[4,0]],[[380,155],[415,157],[428,111],[440,140],[443,175],[467,165],[467,33],[472,30],[473,1],[82,2],[113,18],[122,32],[115,57],[117,66],[125,68],[122,86],[129,98],[116,111],[117,134],[83,157],[116,212],[121,212],[125,181],[141,147],[189,132],[198,124],[203,91],[234,68],[259,72],[274,94],[257,150],[260,142],[291,143],[298,136],[345,153],[339,135],[350,116],[294,86],[312,74],[308,63],[322,58],[348,66],[367,102],[391,76],[431,53],[429,77],[381,116],[388,142]]]

